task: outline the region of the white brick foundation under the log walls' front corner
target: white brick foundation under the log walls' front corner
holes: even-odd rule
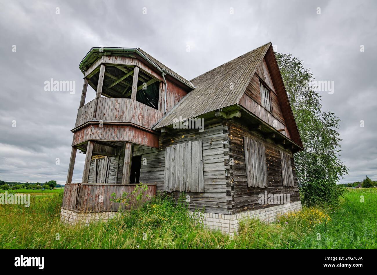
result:
[[[242,219],[257,218],[267,223],[274,222],[277,215],[288,212],[296,212],[302,209],[301,201],[292,202],[288,207],[287,205],[276,205],[272,207],[262,208],[259,210],[245,211],[242,213],[228,215],[228,214],[215,214],[215,213],[194,213],[191,216],[200,216],[200,220],[205,228],[211,230],[220,230],[223,233],[237,233],[239,222]]]

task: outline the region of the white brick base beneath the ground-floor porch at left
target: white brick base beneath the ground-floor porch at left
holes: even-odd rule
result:
[[[113,218],[117,212],[76,212],[66,208],[60,210],[60,222],[68,225],[84,224],[90,222],[107,222]]]

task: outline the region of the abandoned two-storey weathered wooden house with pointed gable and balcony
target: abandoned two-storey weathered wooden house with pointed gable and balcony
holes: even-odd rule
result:
[[[135,48],[92,48],[80,69],[63,222],[112,217],[111,194],[139,182],[150,195],[184,193],[205,226],[229,233],[245,217],[301,208],[293,153],[303,145],[271,43],[191,81]],[[77,150],[86,159],[72,183]]]

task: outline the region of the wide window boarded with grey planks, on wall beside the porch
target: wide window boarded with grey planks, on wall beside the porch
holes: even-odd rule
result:
[[[204,192],[202,140],[166,147],[164,191]]]

